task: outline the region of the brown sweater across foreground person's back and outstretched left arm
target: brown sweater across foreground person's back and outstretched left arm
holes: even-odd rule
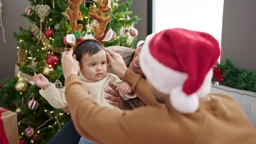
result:
[[[239,105],[221,93],[209,94],[210,100],[201,100],[197,112],[183,115],[167,107],[100,107],[76,74],[65,84],[76,130],[96,143],[256,143],[255,130]]]

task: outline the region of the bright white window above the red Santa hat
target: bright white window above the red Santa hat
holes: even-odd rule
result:
[[[186,28],[207,32],[221,44],[224,0],[153,0],[152,31]]]

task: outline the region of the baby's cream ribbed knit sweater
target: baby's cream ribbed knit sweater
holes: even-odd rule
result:
[[[111,94],[108,94],[104,91],[104,89],[110,89],[112,88],[108,85],[108,83],[112,83],[115,86],[119,86],[123,81],[119,79],[118,76],[107,73],[106,76],[97,82],[92,82],[85,78],[81,73],[79,74],[79,79],[84,82],[84,85],[88,89],[91,98],[93,101],[98,103],[102,107],[112,107],[112,108],[118,108],[117,106],[112,106],[109,104],[109,100],[105,99],[105,96],[111,96]],[[55,107],[56,109],[62,109],[63,107],[67,106],[67,101],[65,97],[65,87],[58,89],[55,87],[55,84],[52,83],[49,88],[43,90],[41,89],[39,93],[48,101],[48,103]],[[121,97],[123,97],[124,100],[129,100],[130,98],[135,98],[137,95],[126,95],[126,94],[120,94]],[[118,108],[119,109],[119,108]]]

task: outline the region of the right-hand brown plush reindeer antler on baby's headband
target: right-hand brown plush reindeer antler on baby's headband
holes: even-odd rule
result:
[[[106,25],[112,19],[111,16],[106,17],[105,14],[111,11],[111,9],[108,7],[108,0],[103,0],[103,2],[99,0],[97,1],[97,5],[99,6],[99,8],[91,7],[91,12],[89,12],[88,15],[100,23],[99,28],[97,26],[94,26],[94,37],[97,40],[102,41],[106,35],[106,33],[104,34]]]

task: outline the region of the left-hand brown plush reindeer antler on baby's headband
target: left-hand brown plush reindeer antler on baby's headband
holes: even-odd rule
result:
[[[70,8],[66,9],[67,14],[69,15],[69,19],[70,19],[70,26],[72,28],[72,32],[74,33],[74,31],[79,31],[81,32],[81,30],[83,29],[83,25],[79,24],[78,25],[78,20],[83,20],[82,17],[82,13],[79,10],[79,5],[81,5],[83,2],[83,0],[69,0],[68,3],[71,7],[73,7],[73,11],[70,10]]]

